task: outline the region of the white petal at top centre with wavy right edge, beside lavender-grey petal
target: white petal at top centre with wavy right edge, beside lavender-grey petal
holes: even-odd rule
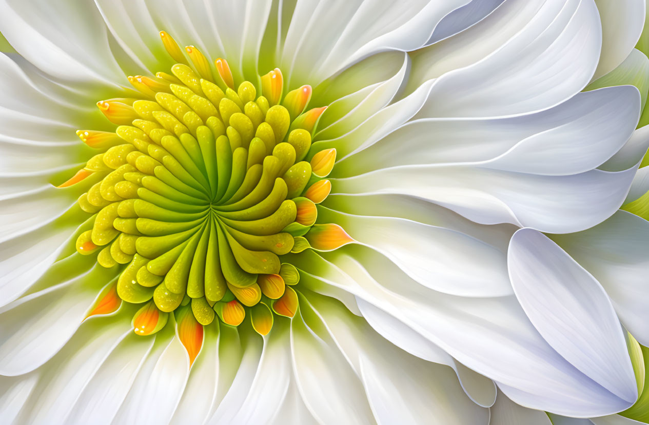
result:
[[[388,49],[413,50],[448,12],[469,0],[314,3],[299,1],[284,40],[289,86],[317,84],[356,60]]]

